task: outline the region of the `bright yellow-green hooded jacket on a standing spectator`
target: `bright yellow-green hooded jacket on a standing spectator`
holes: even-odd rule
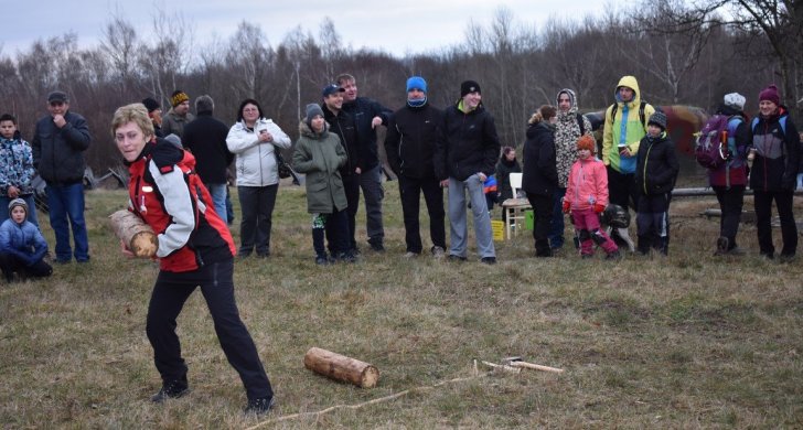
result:
[[[632,88],[633,99],[623,103],[619,98],[619,87]],[[644,123],[642,123],[639,116],[641,90],[634,76],[623,76],[619,79],[613,97],[619,107],[617,108],[615,118],[611,116],[613,105],[608,107],[606,111],[606,125],[602,132],[602,162],[617,172],[635,173],[635,155],[639,153],[639,142],[646,135],[646,120],[655,112],[655,108],[650,104],[644,106]],[[621,147],[627,147],[632,157],[620,157]]]

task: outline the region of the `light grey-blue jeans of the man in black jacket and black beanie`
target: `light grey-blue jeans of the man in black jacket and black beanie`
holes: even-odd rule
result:
[[[493,232],[491,230],[491,216],[488,214],[485,193],[482,181],[472,174],[465,181],[449,178],[449,224],[450,249],[449,254],[465,257],[468,252],[469,225],[465,208],[465,191],[469,192],[471,212],[474,215],[474,233],[477,234],[477,251],[480,258],[496,257],[493,246]]]

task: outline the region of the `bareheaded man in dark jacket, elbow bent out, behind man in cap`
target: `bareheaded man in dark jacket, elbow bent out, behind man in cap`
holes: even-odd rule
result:
[[[354,118],[360,139],[360,187],[365,200],[365,226],[368,244],[375,251],[384,251],[385,228],[382,225],[382,200],[385,190],[382,187],[382,163],[379,163],[376,127],[387,126],[393,114],[390,109],[366,97],[357,97],[357,84],[354,76],[338,76],[338,85],[343,88],[343,110]],[[351,206],[351,204],[350,204]]]

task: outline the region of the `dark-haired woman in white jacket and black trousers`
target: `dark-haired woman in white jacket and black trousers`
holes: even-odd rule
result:
[[[276,151],[290,148],[290,138],[272,120],[265,118],[254,99],[245,99],[237,122],[228,130],[226,146],[237,155],[237,194],[243,212],[239,224],[239,256],[270,256],[270,227],[279,190]]]

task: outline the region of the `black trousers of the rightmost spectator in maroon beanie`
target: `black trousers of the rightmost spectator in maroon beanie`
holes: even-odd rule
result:
[[[783,239],[782,256],[792,257],[797,250],[797,225],[794,223],[792,212],[791,191],[759,191],[753,190],[756,206],[756,227],[759,235],[759,249],[762,255],[772,257],[775,247],[772,245],[772,201],[775,201],[778,216],[781,218],[781,238]]]

